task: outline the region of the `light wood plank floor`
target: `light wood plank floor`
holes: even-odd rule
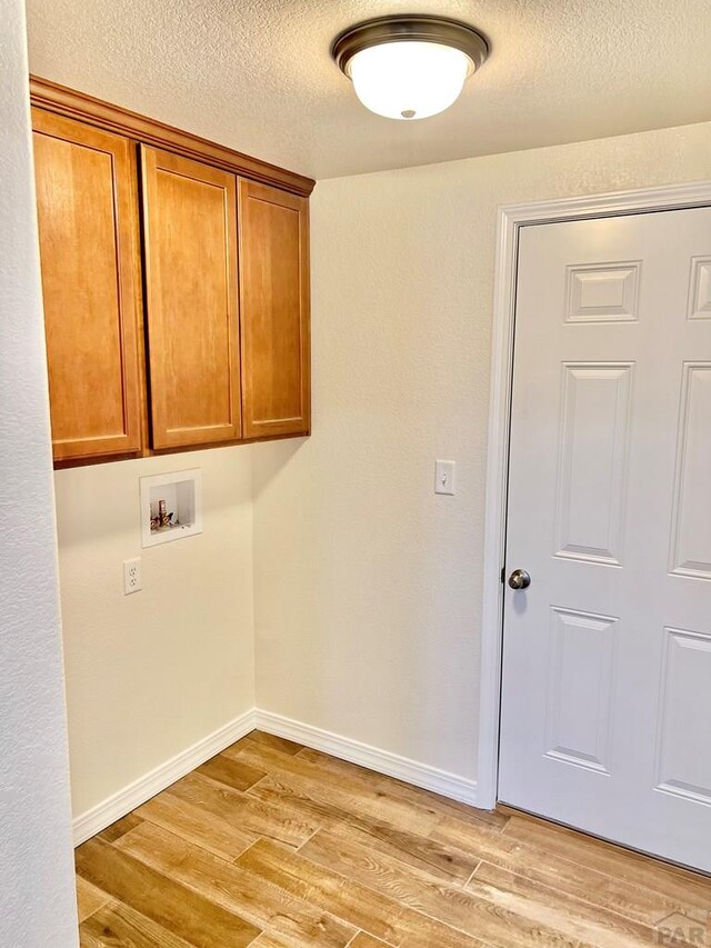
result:
[[[711,879],[258,731],[77,872],[82,948],[711,945]]]

